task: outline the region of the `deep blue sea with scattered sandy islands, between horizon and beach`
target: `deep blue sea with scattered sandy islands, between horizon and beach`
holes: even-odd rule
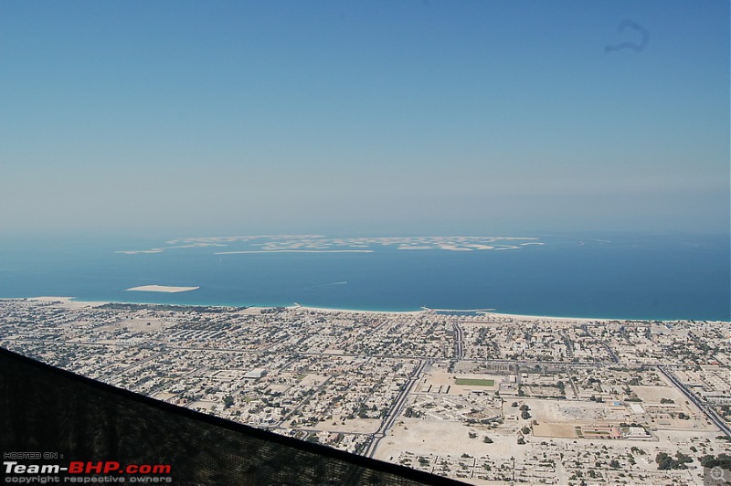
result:
[[[0,298],[731,321],[730,256],[728,235],[2,237]]]

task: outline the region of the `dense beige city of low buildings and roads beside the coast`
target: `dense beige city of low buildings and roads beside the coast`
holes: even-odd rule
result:
[[[0,345],[475,484],[701,485],[731,470],[729,322],[38,298],[0,301]]]

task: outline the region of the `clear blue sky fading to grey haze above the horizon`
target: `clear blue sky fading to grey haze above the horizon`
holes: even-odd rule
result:
[[[729,232],[727,0],[0,3],[0,234]]]

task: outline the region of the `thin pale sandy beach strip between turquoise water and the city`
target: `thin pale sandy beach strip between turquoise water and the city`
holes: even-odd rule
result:
[[[85,307],[85,306],[99,306],[104,305],[108,303],[129,303],[129,304],[139,304],[139,305],[175,305],[175,306],[181,306],[181,307],[239,307],[241,309],[272,309],[276,307],[281,307],[283,309],[287,309],[288,311],[296,311],[296,310],[302,310],[302,311],[310,311],[310,312],[323,312],[323,313],[339,313],[339,312],[345,312],[345,313],[354,313],[354,314],[389,314],[389,315],[404,315],[404,316],[415,316],[420,314],[432,314],[432,315],[445,315],[449,316],[448,314],[438,314],[437,312],[433,312],[431,310],[422,308],[418,311],[377,311],[377,310],[360,310],[360,309],[338,309],[334,307],[317,307],[317,306],[309,306],[309,305],[301,305],[297,302],[293,302],[293,305],[287,305],[287,306],[280,306],[280,305],[256,305],[252,304],[249,306],[243,306],[243,305],[227,305],[227,304],[176,304],[176,303],[168,303],[168,302],[133,302],[133,301],[76,301],[74,297],[67,297],[67,296],[37,296],[37,297],[15,297],[15,298],[0,298],[0,300],[10,300],[10,299],[26,299],[28,301],[61,301],[64,305],[67,305],[72,308],[79,308],[79,307]],[[440,312],[450,312],[452,310],[449,309],[441,309]],[[454,312],[458,312],[459,310],[453,310]],[[551,321],[551,322],[721,322],[721,323],[731,323],[731,320],[729,321],[723,321],[718,319],[636,319],[636,318],[613,318],[613,317],[564,317],[564,316],[549,316],[549,315],[532,315],[532,314],[511,314],[511,313],[505,313],[505,312],[484,312],[480,311],[479,314],[476,316],[469,316],[464,315],[461,317],[478,317],[478,316],[484,316],[489,315],[492,317],[496,317],[499,319],[517,319],[521,321],[530,321],[530,322],[540,322],[540,321]]]

